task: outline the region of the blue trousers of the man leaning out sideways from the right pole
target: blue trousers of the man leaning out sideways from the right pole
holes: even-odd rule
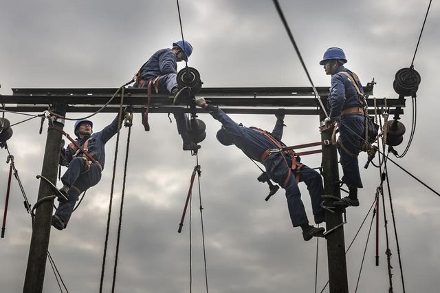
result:
[[[298,188],[298,183],[296,182],[297,174],[300,175],[300,182],[304,182],[307,185],[311,199],[311,209],[314,215],[322,213],[320,202],[324,188],[321,175],[318,172],[304,165],[298,171],[292,172],[287,182],[285,182],[289,169],[292,166],[292,161],[290,158],[285,159],[281,153],[272,153],[263,162],[263,165],[270,179],[285,189],[287,208],[289,208],[290,219],[294,227],[309,223],[303,201],[301,200],[300,188]]]

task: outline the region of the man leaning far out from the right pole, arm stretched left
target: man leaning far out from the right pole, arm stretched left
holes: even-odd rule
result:
[[[217,140],[221,144],[225,146],[234,144],[249,158],[261,162],[270,179],[285,189],[290,219],[294,227],[300,226],[303,229],[304,240],[308,241],[314,236],[322,236],[324,228],[309,225],[298,188],[298,182],[305,182],[311,197],[315,223],[322,223],[325,221],[325,212],[320,206],[321,195],[324,191],[320,174],[314,169],[300,164],[300,158],[296,157],[293,151],[290,153],[270,152],[271,149],[279,149],[284,145],[281,142],[281,137],[285,126],[283,122],[285,115],[276,115],[274,131],[269,133],[256,127],[243,127],[241,124],[236,124],[221,109],[208,105],[204,98],[196,98],[195,102],[199,107],[206,109],[214,119],[221,122],[222,127],[217,132]]]

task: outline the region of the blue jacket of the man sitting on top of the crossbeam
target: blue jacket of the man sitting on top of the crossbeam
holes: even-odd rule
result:
[[[171,49],[155,52],[140,68],[140,78],[144,80],[172,73],[177,74],[177,61]]]

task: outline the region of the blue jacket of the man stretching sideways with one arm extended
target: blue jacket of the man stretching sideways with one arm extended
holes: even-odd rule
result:
[[[244,127],[237,124],[218,107],[208,105],[206,110],[215,120],[221,122],[224,129],[232,137],[235,146],[241,149],[241,151],[252,160],[261,162],[261,155],[263,155],[267,149],[278,149],[278,146],[276,146],[274,142],[263,133],[256,131],[255,127]],[[274,131],[270,133],[273,138],[280,142],[283,137],[283,127],[283,121],[276,120]]]

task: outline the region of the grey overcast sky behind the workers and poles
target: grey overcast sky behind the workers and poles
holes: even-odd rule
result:
[[[428,0],[280,1],[287,21],[317,86],[330,78],[318,63],[322,53],[342,47],[347,67],[363,84],[375,78],[374,96],[396,98],[395,72],[408,67],[415,50]],[[194,47],[189,65],[201,73],[204,87],[308,86],[272,1],[181,0],[184,37]],[[179,40],[175,1],[23,1],[0,0],[0,94],[14,87],[119,87],[155,51]],[[439,80],[440,7],[432,4],[415,59],[421,74],[417,93],[417,131],[412,147],[399,164],[440,191]],[[183,64],[179,64],[181,68]],[[0,98],[1,99],[1,98]],[[411,106],[401,121],[410,129]],[[79,117],[72,113],[69,117]],[[114,114],[94,118],[99,131]],[[314,292],[316,241],[303,241],[292,228],[283,191],[265,202],[267,186],[256,181],[259,170],[233,146],[217,142],[219,122],[200,116],[208,136],[201,143],[201,191],[209,291],[212,293]],[[23,116],[6,114],[11,122]],[[274,116],[232,116],[236,122],[272,130]],[[181,234],[177,227],[195,158],[181,151],[175,122],[151,114],[146,133],[135,116],[132,129],[116,292],[189,292],[188,214]],[[320,139],[318,118],[288,116],[283,140],[301,144]],[[65,129],[73,133],[73,123]],[[14,127],[8,142],[31,204],[36,202],[45,133],[39,121]],[[107,254],[104,291],[111,288],[126,129],[121,132],[118,178]],[[408,131],[409,132],[409,131]],[[397,147],[403,151],[408,140]],[[104,246],[115,138],[107,144],[102,180],[87,193],[66,230],[52,229],[50,252],[69,292],[98,292]],[[8,164],[0,150],[0,212],[3,215]],[[320,155],[303,158],[320,165]],[[360,155],[361,167],[366,155]],[[407,292],[438,292],[440,286],[440,198],[400,169],[388,165],[397,232]],[[64,169],[65,170],[65,169]],[[63,171],[64,171],[63,170]],[[344,226],[348,244],[366,215],[379,184],[373,166],[361,170],[361,206],[349,208]],[[341,172],[342,174],[342,172]],[[13,179],[14,180],[14,179]],[[58,182],[61,186],[61,182]],[[196,188],[197,189],[197,188]],[[196,191],[195,189],[195,191]],[[300,184],[313,223],[307,188]],[[17,182],[12,182],[6,235],[0,240],[1,292],[21,292],[31,237],[30,217],[23,208]],[[192,203],[192,290],[205,292],[198,194]],[[386,292],[388,274],[382,206],[380,266],[375,267],[370,239],[358,292]],[[386,198],[395,292],[401,292],[397,249]],[[368,224],[347,254],[349,288],[355,290]],[[374,235],[374,230],[373,230]],[[320,240],[318,292],[327,282],[327,252]],[[47,263],[45,292],[57,292]],[[327,291],[328,292],[328,289]]]

